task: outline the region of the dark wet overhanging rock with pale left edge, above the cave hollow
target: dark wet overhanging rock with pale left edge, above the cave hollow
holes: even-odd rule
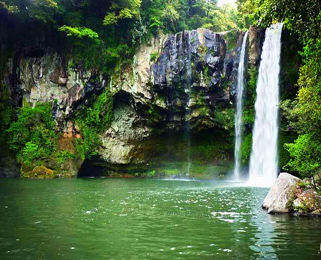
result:
[[[204,28],[159,36],[140,47],[133,66],[112,85],[133,97],[136,110],[152,126],[173,129],[188,122],[195,130],[215,127],[215,108],[233,107],[231,86],[242,35],[236,34],[232,51],[227,51],[224,34]],[[156,60],[148,62],[151,53]],[[155,116],[143,111],[151,106]],[[202,124],[204,121],[207,123]]]

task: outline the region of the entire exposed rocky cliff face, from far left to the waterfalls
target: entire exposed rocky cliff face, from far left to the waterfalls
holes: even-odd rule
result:
[[[258,34],[255,29],[250,33],[250,62],[259,60]],[[109,88],[113,121],[97,147],[99,160],[108,165],[147,163],[150,154],[164,152],[153,140],[169,130],[233,130],[242,39],[241,31],[215,33],[203,28],[159,35],[141,45],[132,63],[116,69],[111,78],[99,71],[77,70],[57,53],[16,57],[9,62],[5,83],[18,106],[22,100],[32,105],[52,102],[66,138],[81,137],[73,121],[78,107]],[[230,150],[225,150],[224,160],[231,157]],[[76,174],[77,167],[71,175]]]

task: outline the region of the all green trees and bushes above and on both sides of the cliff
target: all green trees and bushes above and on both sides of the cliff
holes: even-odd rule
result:
[[[0,81],[10,56],[41,52],[43,46],[69,53],[72,67],[100,71],[108,78],[115,67],[131,62],[139,44],[157,33],[198,27],[214,31],[246,29],[251,24],[269,26],[276,21],[283,21],[287,29],[299,36],[303,46],[300,52],[303,65],[294,87],[298,89],[297,95],[280,103],[287,131],[287,137],[281,135],[281,139],[288,141],[283,147],[287,153],[281,149],[280,163],[283,168],[309,176],[318,173],[321,167],[319,0],[237,0],[237,8],[231,5],[219,7],[216,0],[0,1],[0,25],[3,28],[0,32]],[[152,53],[150,59],[156,57],[156,53]],[[251,125],[257,68],[249,68],[247,74],[243,119]],[[0,85],[0,139],[2,143],[6,142],[9,134],[9,147],[26,164],[41,163],[49,157],[63,161],[70,157],[94,155],[99,134],[112,120],[113,98],[105,90],[93,96],[91,102],[74,115],[83,138],[75,141],[76,150],[70,152],[58,147],[60,134],[51,114],[53,104],[31,107],[17,102],[10,102],[8,87]],[[231,110],[229,118],[232,117]],[[224,121],[226,117],[217,116],[216,120],[227,125],[227,130],[233,129],[231,120]],[[251,136],[247,131],[243,138],[244,164],[249,160]]]

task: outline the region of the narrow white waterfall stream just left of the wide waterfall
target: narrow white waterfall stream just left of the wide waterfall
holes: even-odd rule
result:
[[[234,177],[237,179],[240,176],[240,146],[242,142],[242,112],[243,112],[243,91],[244,91],[244,68],[246,64],[245,49],[248,31],[245,32],[242,50],[240,55],[239,70],[237,75],[237,103],[235,114],[235,148],[234,148]]]

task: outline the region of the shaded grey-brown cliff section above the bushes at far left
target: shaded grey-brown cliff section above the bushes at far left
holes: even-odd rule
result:
[[[65,131],[67,118],[77,102],[86,102],[91,94],[106,85],[99,74],[68,67],[65,57],[51,52],[43,56],[11,58],[4,81],[10,86],[11,98],[17,106],[22,105],[22,100],[32,106],[56,100],[53,116]]]

